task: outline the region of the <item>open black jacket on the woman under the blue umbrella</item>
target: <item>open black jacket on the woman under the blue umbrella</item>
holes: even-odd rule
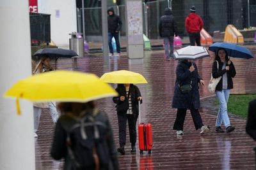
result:
[[[219,62],[219,69],[217,69],[216,61],[214,61],[212,64],[212,77],[218,78],[220,76],[223,76],[223,74],[225,74],[227,72],[228,89],[233,89],[232,78],[234,78],[234,76],[236,76],[236,69],[235,69],[233,62],[231,62],[229,65],[229,71],[227,71],[226,69],[222,69],[223,62],[220,62],[220,60],[218,60],[218,62]],[[221,91],[221,90],[222,90],[222,78],[221,78],[220,82],[218,83],[218,85],[216,86],[216,91]]]

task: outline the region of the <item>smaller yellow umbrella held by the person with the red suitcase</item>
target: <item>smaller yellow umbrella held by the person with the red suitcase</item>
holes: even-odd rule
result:
[[[106,83],[148,83],[141,74],[127,70],[104,73],[100,80]]]

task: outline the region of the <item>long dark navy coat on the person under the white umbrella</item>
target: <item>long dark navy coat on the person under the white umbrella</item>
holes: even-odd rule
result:
[[[193,63],[195,71],[190,72],[189,67],[191,62],[188,60],[180,60],[176,68],[175,89],[172,100],[172,108],[190,109],[192,106],[195,109],[200,108],[200,96],[198,91],[198,82],[202,79],[198,75],[196,64]],[[191,83],[192,80],[192,83]],[[179,89],[180,85],[191,83],[192,89],[187,94],[183,94]]]

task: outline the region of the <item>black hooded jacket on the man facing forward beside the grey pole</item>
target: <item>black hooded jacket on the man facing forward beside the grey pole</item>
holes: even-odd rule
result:
[[[108,32],[116,33],[116,31],[120,31],[122,27],[122,21],[118,15],[115,15],[115,11],[113,8],[108,10],[113,12],[113,15],[108,15]]]

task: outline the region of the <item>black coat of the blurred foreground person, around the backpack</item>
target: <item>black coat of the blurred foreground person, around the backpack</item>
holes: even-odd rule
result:
[[[117,159],[116,150],[115,150],[115,141],[113,140],[113,132],[111,129],[111,124],[109,122],[108,116],[104,112],[99,112],[95,116],[95,121],[102,122],[104,125],[106,125],[106,131],[101,132],[101,130],[99,129],[99,134],[104,133],[104,136],[102,136],[102,138],[106,140],[104,141],[104,143],[107,143],[107,148],[109,152],[108,153],[106,152],[104,154],[108,155],[109,157],[108,162],[109,164],[112,163],[112,166],[113,166],[112,168],[109,168],[109,170],[119,169],[118,159]],[[67,129],[70,129],[75,124],[77,124],[77,120],[67,115],[62,115],[58,119],[58,122],[56,123],[56,127],[55,127],[54,138],[53,138],[53,143],[51,148],[51,156],[53,159],[56,159],[56,160],[60,160],[64,158],[65,170],[75,170],[74,166],[72,166],[73,161],[70,158],[70,154],[68,154],[67,142],[66,142]],[[74,134],[71,133],[70,134],[71,142],[76,143],[77,141],[72,141],[73,136]],[[97,148],[97,152],[99,152],[98,148]],[[106,169],[108,169],[108,167],[106,167]]]

